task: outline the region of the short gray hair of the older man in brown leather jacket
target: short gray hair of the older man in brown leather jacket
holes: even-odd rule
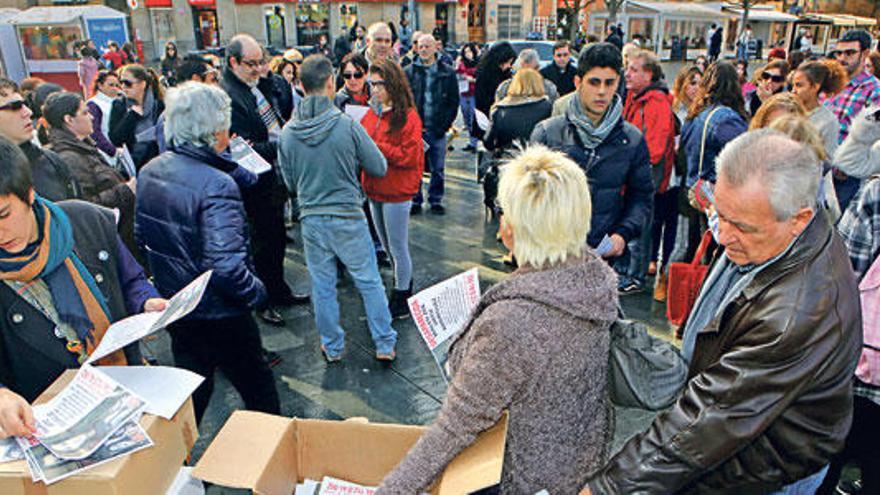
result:
[[[816,153],[781,132],[747,132],[721,150],[718,175],[733,187],[760,181],[777,220],[788,220],[802,208],[815,209],[822,167]]]

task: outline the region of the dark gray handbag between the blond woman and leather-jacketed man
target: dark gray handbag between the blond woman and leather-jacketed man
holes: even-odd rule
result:
[[[608,393],[620,407],[659,411],[671,406],[687,381],[688,365],[671,343],[640,322],[620,317],[611,325]]]

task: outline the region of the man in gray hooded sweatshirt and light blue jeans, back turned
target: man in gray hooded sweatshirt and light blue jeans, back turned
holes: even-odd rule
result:
[[[336,299],[338,258],[364,301],[376,359],[392,361],[397,332],[391,328],[359,181],[361,170],[382,177],[388,165],[364,128],[333,106],[336,85],[329,59],[306,58],[300,81],[306,97],[281,133],[278,165],[299,204],[321,349],[328,361],[339,361],[345,345]]]

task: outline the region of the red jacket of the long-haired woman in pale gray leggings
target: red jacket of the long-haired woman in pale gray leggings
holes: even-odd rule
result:
[[[371,177],[362,173],[361,183],[367,197],[373,201],[400,203],[411,200],[419,192],[422,183],[425,169],[422,120],[416,109],[410,108],[403,128],[388,134],[390,120],[390,112],[379,119],[373,109],[361,120],[361,125],[388,161],[385,177]]]

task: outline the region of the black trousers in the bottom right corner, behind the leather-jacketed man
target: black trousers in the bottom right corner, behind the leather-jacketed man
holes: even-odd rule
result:
[[[860,493],[880,493],[880,405],[858,395],[853,401],[853,425],[843,452],[831,460],[828,475],[816,491],[818,495],[837,493],[840,473],[849,461],[855,461],[862,472]]]

